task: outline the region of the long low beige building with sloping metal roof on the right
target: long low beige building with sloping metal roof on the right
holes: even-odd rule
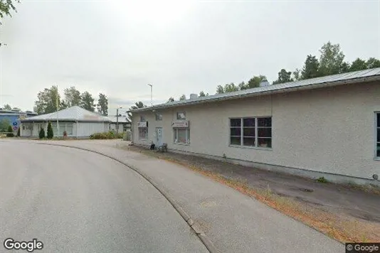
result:
[[[267,82],[268,83],[268,82]],[[380,68],[132,110],[134,144],[335,182],[380,176]]]

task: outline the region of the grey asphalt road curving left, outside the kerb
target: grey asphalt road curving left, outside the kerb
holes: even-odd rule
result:
[[[37,238],[35,252],[208,252],[168,201],[110,158],[0,142],[0,252]]]

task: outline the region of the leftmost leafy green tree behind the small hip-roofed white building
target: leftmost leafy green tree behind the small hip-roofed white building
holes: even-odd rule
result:
[[[58,93],[58,86],[52,86],[50,89],[45,88],[42,92],[38,92],[38,100],[34,102],[34,112],[38,114],[47,114],[56,112],[60,105],[60,95]]]

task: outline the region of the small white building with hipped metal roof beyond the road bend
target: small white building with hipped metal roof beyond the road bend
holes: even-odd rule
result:
[[[57,119],[59,127],[57,127]],[[108,131],[111,121],[107,117],[74,106],[58,112],[22,119],[20,136],[38,137],[41,128],[47,131],[48,122],[51,122],[53,126],[54,136],[63,136],[63,132],[66,131],[68,137],[88,138],[91,134]]]

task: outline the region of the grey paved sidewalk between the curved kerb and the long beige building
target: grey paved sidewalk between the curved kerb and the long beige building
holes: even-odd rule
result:
[[[184,166],[116,148],[114,141],[48,141],[125,161],[147,173],[206,232],[221,252],[342,252],[344,245],[260,201]]]

